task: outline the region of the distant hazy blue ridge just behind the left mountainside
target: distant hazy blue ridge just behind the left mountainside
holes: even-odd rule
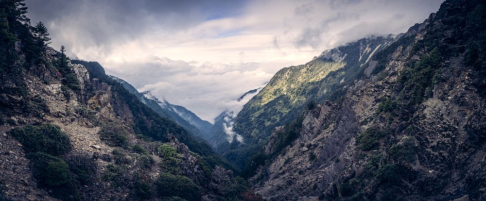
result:
[[[202,120],[190,110],[180,105],[171,104],[165,99],[160,101],[154,95],[152,95],[150,91],[139,93],[134,86],[126,81],[115,76],[110,77],[120,82],[130,93],[136,95],[140,101],[145,103],[160,116],[172,119],[177,124],[190,131],[192,134],[197,135],[205,140],[210,138],[209,130],[213,125],[208,121]]]

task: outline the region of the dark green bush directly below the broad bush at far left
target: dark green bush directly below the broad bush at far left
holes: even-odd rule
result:
[[[71,181],[69,166],[61,158],[43,152],[30,153],[27,157],[40,185],[59,186]]]

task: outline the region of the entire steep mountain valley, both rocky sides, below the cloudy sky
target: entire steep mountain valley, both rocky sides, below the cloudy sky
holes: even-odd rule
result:
[[[486,2],[278,70],[203,120],[0,6],[0,201],[480,201]],[[66,47],[69,48],[69,47]]]

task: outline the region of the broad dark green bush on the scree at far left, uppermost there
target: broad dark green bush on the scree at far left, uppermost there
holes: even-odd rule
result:
[[[52,124],[40,126],[27,125],[9,131],[23,146],[27,153],[44,152],[55,156],[71,150],[68,135]]]

